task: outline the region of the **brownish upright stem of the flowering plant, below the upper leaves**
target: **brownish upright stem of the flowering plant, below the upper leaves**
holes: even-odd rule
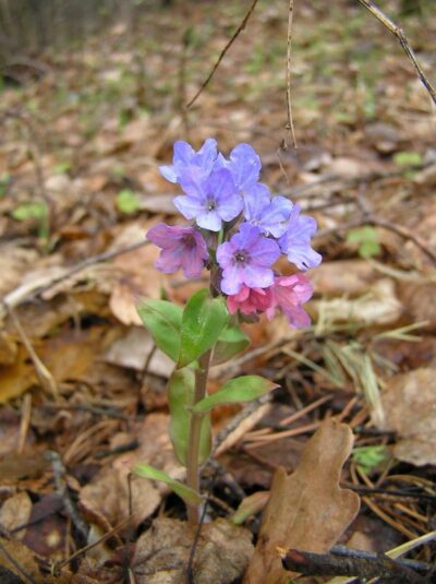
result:
[[[210,356],[211,349],[202,355],[202,357],[198,359],[199,366],[198,369],[195,371],[195,391],[193,405],[203,400],[203,397],[206,395],[206,383],[209,373]],[[203,418],[204,414],[191,414],[190,443],[187,449],[186,465],[186,485],[194,489],[196,492],[199,492],[198,456]],[[196,525],[199,521],[199,508],[196,505],[187,505],[187,519],[190,523]]]

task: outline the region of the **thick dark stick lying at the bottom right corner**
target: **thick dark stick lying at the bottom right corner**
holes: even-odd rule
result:
[[[385,555],[371,558],[314,553],[296,549],[284,550],[281,562],[286,570],[305,575],[382,577],[402,584],[424,584],[426,577],[416,574],[403,563],[391,560]]]

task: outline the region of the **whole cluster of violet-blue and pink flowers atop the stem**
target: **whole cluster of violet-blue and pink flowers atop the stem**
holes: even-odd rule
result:
[[[180,184],[184,194],[174,198],[174,205],[192,226],[149,229],[148,239],[162,250],[156,267],[167,273],[182,269],[196,278],[207,264],[218,271],[232,314],[265,312],[271,319],[280,309],[293,326],[307,326],[302,305],[312,285],[302,273],[278,274],[274,264],[283,253],[299,270],[318,265],[322,257],[311,247],[316,222],[286,196],[272,196],[259,182],[261,167],[249,144],[235,146],[227,159],[213,139],[198,152],[175,142],[172,165],[160,171]]]

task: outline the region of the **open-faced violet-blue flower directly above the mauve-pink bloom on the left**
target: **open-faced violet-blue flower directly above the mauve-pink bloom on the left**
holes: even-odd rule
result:
[[[183,177],[181,186],[186,195],[177,196],[174,205],[186,219],[195,219],[204,229],[219,231],[223,221],[234,219],[242,211],[242,198],[226,168],[214,170],[201,181]]]

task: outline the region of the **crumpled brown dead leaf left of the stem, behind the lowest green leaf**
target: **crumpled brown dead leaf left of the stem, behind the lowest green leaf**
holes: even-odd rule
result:
[[[134,428],[133,437],[140,446],[132,453],[119,456],[111,467],[102,468],[81,491],[81,501],[92,510],[102,514],[114,526],[129,517],[128,477],[137,463],[148,463],[165,470],[172,478],[184,476],[175,461],[168,436],[169,417],[165,414],[150,414]],[[132,523],[137,526],[150,515],[169,492],[162,484],[146,478],[132,478]]]

